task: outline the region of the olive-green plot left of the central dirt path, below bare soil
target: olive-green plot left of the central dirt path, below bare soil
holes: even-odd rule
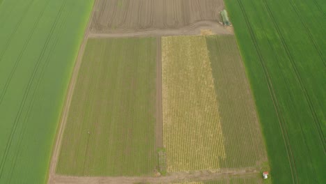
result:
[[[155,38],[88,40],[63,135],[58,174],[153,174],[158,162],[155,67]]]

